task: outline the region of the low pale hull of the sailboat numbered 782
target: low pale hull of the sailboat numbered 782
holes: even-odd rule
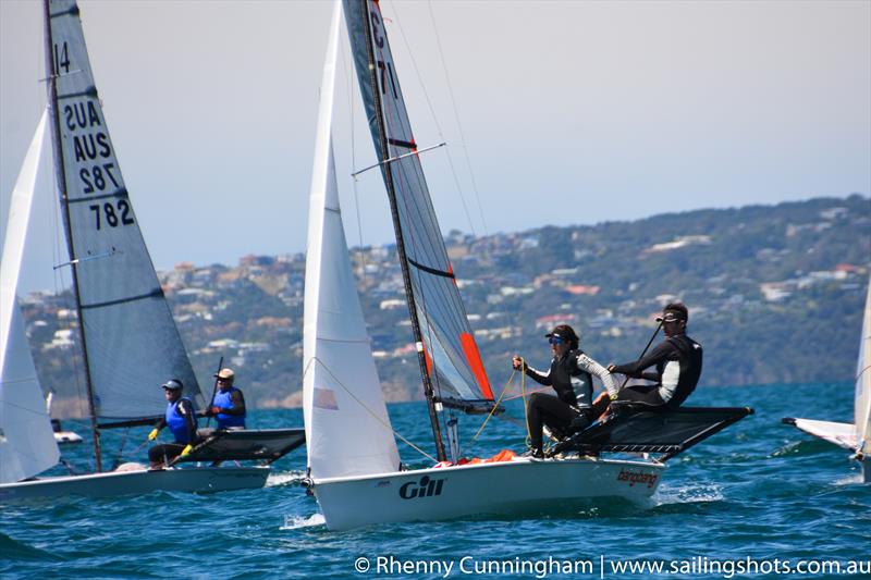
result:
[[[201,493],[250,490],[262,488],[269,471],[268,467],[196,467],[36,478],[0,485],[0,503],[69,495],[139,495],[158,490]]]

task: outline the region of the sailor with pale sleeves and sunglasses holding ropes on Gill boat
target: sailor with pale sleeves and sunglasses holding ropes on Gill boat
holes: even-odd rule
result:
[[[605,391],[616,393],[614,379],[604,367],[578,348],[578,338],[572,326],[560,324],[545,334],[551,345],[553,360],[548,372],[527,366],[515,356],[513,366],[520,369],[537,383],[553,386],[556,396],[533,393],[527,406],[527,428],[530,437],[530,455],[543,457],[542,429],[547,424],[554,434],[569,435],[589,425],[596,416],[592,411],[592,375],[602,380]]]

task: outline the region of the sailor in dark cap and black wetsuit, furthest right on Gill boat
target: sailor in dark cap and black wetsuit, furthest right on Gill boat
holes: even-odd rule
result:
[[[701,377],[702,348],[687,336],[689,312],[682,303],[673,303],[662,309],[657,322],[662,322],[665,340],[649,355],[625,365],[610,365],[608,370],[634,379],[653,381],[652,385],[631,385],[622,388],[612,400],[637,403],[662,410],[676,409],[696,388]],[[643,372],[655,367],[654,372]],[[609,400],[599,397],[593,409],[599,417],[608,409]]]

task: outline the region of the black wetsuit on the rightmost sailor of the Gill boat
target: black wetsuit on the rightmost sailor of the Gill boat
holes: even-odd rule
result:
[[[613,372],[655,383],[627,386],[619,391],[617,400],[676,409],[696,388],[701,377],[701,362],[702,348],[699,343],[686,334],[670,336],[646,357],[614,367]],[[650,367],[655,367],[655,372],[643,372]]]

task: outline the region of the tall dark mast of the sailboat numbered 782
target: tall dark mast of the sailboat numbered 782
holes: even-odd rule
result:
[[[70,255],[70,268],[73,275],[73,295],[75,296],[75,312],[78,323],[78,338],[82,342],[82,362],[85,368],[85,386],[88,393],[88,414],[90,415],[90,432],[91,440],[94,441],[94,458],[96,461],[97,471],[102,471],[102,457],[100,453],[100,431],[97,427],[97,409],[94,404],[94,386],[90,382],[90,365],[88,363],[88,348],[85,341],[84,319],[82,317],[82,301],[79,299],[78,286],[78,264],[76,262],[75,246],[73,244],[72,223],[70,220],[70,203],[66,194],[66,170],[63,166],[63,151],[61,145],[61,120],[58,111],[58,87],[56,78],[60,74],[60,67],[57,65],[53,54],[54,45],[51,36],[51,9],[49,0],[42,2],[45,9],[46,22],[46,73],[47,73],[47,87],[48,87],[48,106],[51,110],[51,150],[54,155],[54,174],[58,181],[58,192],[61,198],[61,208],[63,210],[63,225],[66,237],[66,251]],[[76,7],[76,11],[77,11]],[[62,50],[59,47],[58,50]],[[60,52],[59,52],[60,53]]]

